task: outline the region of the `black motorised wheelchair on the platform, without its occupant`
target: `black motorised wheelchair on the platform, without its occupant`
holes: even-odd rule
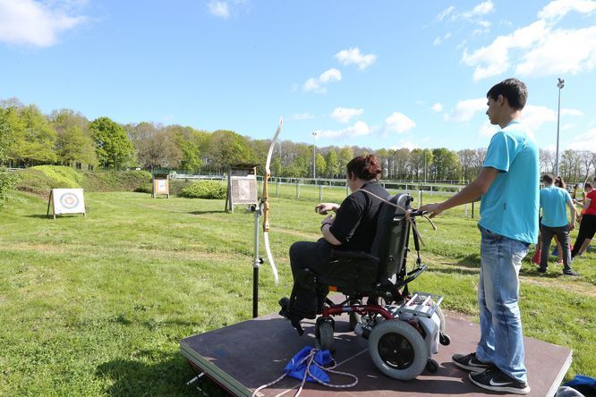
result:
[[[421,263],[420,240],[412,232],[416,216],[422,214],[412,211],[413,198],[407,193],[387,201],[398,207],[382,204],[371,252],[333,249],[324,273],[304,270],[304,275],[294,283],[290,298],[279,301],[280,313],[292,310],[296,294],[305,284],[311,291],[322,288],[343,293],[345,300],[341,303],[328,298],[321,302],[321,316],[315,323],[317,347],[333,350],[333,317],[348,313],[350,329],[368,339],[375,366],[387,376],[410,380],[424,369],[437,372],[438,362],[431,355],[438,352],[439,343],[448,345],[451,340],[445,333],[445,317],[439,308],[443,297],[408,291],[408,283],[427,269]],[[406,218],[408,210],[412,224]],[[408,272],[406,261],[411,237],[417,258],[415,267]],[[297,288],[297,283],[301,283],[301,288]],[[302,334],[300,325],[297,329]]]

